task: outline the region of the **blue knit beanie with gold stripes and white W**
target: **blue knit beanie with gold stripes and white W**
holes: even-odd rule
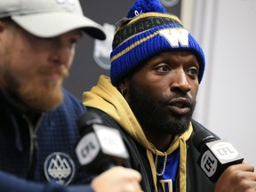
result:
[[[178,17],[165,11],[158,0],[136,0],[127,18],[116,28],[110,54],[110,78],[113,85],[133,68],[159,52],[194,52],[199,61],[199,83],[204,75],[204,52]]]

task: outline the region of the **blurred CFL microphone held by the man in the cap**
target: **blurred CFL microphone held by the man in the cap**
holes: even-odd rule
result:
[[[129,159],[120,132],[103,125],[98,114],[86,112],[76,123],[82,135],[76,156],[84,170],[100,173]]]

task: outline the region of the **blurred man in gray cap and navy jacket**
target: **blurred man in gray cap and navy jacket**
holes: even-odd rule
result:
[[[92,180],[77,161],[86,108],[62,83],[83,32],[105,38],[78,0],[0,1],[1,192],[141,191],[137,171],[115,167]]]

